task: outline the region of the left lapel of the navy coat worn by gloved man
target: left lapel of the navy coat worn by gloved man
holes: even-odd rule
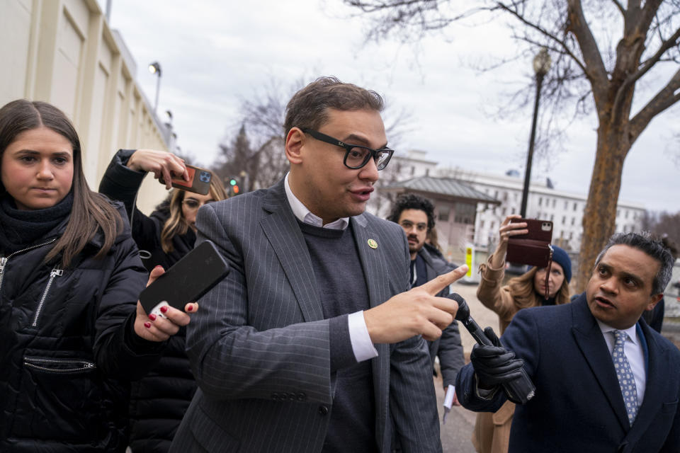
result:
[[[585,294],[572,302],[573,326],[572,334],[585,360],[605,394],[612,411],[616,414],[618,423],[625,432],[630,429],[628,414],[625,411],[621,387],[618,385],[613,361],[602,336],[598,323],[591,314]]]

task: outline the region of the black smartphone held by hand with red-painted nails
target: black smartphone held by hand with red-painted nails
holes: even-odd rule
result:
[[[229,265],[215,244],[205,241],[147,286],[140,293],[140,302],[148,314],[165,317],[162,306],[184,310],[188,302],[198,300],[228,273]]]

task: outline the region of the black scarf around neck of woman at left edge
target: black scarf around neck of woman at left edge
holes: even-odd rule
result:
[[[67,219],[73,206],[73,193],[43,210],[18,210],[14,199],[5,193],[0,198],[0,256],[26,248],[44,238]]]

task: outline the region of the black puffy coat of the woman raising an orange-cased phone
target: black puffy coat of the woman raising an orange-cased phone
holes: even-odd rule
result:
[[[133,150],[120,150],[99,185],[99,191],[125,203],[132,219],[132,238],[147,252],[143,262],[148,270],[162,265],[166,270],[191,251],[196,235],[176,235],[174,251],[165,253],[161,247],[161,230],[169,217],[167,205],[147,217],[135,207],[135,196],[145,173],[126,166]],[[130,448],[133,453],[165,453],[170,449],[179,423],[196,393],[197,384],[191,374],[189,359],[184,352],[186,328],[181,328],[168,340],[157,367],[139,382],[132,384],[130,394]]]

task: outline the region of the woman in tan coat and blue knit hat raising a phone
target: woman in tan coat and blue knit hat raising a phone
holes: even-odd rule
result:
[[[513,316],[530,306],[566,304],[570,302],[569,282],[572,280],[572,260],[567,252],[553,247],[553,264],[548,277],[548,292],[545,291],[546,268],[531,268],[519,277],[511,278],[502,286],[505,275],[505,255],[508,239],[518,234],[527,234],[526,222],[511,223],[519,215],[506,217],[499,229],[500,240],[487,263],[480,265],[482,281],[477,287],[477,299],[493,310],[499,319],[501,335]],[[479,453],[506,453],[510,439],[510,425],[515,411],[514,403],[506,401],[496,413],[477,413],[472,444]]]

